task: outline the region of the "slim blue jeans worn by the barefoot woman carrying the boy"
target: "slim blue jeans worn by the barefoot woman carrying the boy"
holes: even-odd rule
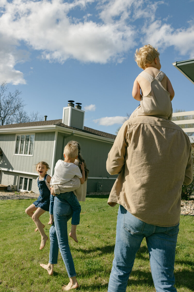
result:
[[[50,228],[49,263],[57,264],[59,249],[68,276],[74,277],[76,276],[76,272],[67,234],[67,221],[72,217],[73,211],[64,197],[63,194],[60,194],[54,198],[54,223]]]

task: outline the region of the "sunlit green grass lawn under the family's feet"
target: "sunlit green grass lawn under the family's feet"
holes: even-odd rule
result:
[[[0,201],[0,291],[1,292],[58,292],[68,283],[63,260],[58,257],[53,276],[40,267],[48,263],[49,240],[41,251],[40,234],[34,232],[35,224],[25,214],[34,200]],[[118,205],[111,208],[107,197],[87,197],[81,202],[80,225],[77,227],[79,243],[70,238],[78,291],[107,291],[116,234]],[[49,235],[49,213],[40,220]],[[69,230],[71,222],[68,222]],[[175,258],[176,288],[179,292],[194,291],[194,217],[181,216]],[[77,290],[76,290],[77,291]],[[155,292],[149,266],[145,240],[137,253],[127,292]]]

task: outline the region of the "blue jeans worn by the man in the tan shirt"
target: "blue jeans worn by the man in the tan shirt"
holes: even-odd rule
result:
[[[160,227],[147,224],[119,207],[115,258],[108,292],[125,292],[136,253],[146,238],[149,261],[156,292],[175,292],[174,264],[179,224]]]

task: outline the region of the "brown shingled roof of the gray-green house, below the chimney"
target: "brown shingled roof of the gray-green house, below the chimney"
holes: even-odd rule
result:
[[[116,135],[109,134],[109,133],[102,132],[102,131],[98,131],[98,130],[95,130],[95,129],[92,129],[92,128],[88,128],[88,127],[84,127],[83,130],[81,130],[81,129],[78,129],[78,128],[73,128],[73,127],[67,126],[67,125],[62,123],[62,119],[3,125],[3,126],[0,126],[0,130],[1,129],[9,129],[9,128],[38,127],[38,126],[51,126],[51,125],[57,125],[57,126],[61,126],[61,127],[64,127],[64,128],[70,128],[70,129],[73,129],[73,130],[77,130],[77,131],[81,131],[81,132],[85,132],[85,133],[90,133],[90,134],[93,134],[93,135],[98,135],[98,136],[105,137],[105,138],[110,138],[110,139],[115,139],[116,138]]]

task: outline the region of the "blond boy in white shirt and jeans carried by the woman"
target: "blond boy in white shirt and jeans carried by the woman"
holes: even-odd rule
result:
[[[78,147],[73,142],[74,141],[68,142],[64,148],[63,156],[65,160],[64,161],[58,160],[55,165],[54,175],[51,178],[51,182],[50,182],[51,187],[53,187],[54,185],[70,185],[70,183],[72,183],[73,178],[75,176],[77,176],[80,179],[81,184],[83,184],[85,181],[84,163],[82,162],[82,164],[80,164],[81,171],[79,167],[76,164],[74,164],[75,159],[78,157]],[[67,202],[72,207],[72,210],[73,210],[72,222],[71,222],[72,229],[69,236],[72,237],[74,241],[78,242],[77,237],[76,237],[76,227],[79,224],[81,206],[73,192],[66,192],[60,195],[64,195],[65,200],[67,200]],[[53,205],[54,205],[53,201],[54,201],[54,198],[51,195],[51,203],[50,203],[50,209],[49,209],[50,214],[53,214],[53,210],[52,210]]]

